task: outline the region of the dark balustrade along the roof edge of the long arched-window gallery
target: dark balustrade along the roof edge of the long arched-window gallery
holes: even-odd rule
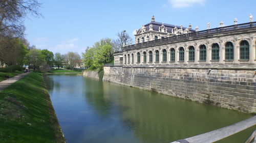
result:
[[[156,46],[156,45],[161,45],[161,44],[169,44],[169,43],[172,43],[172,42],[175,42],[178,40],[188,40],[191,38],[199,38],[199,37],[208,36],[208,35],[217,34],[217,33],[226,33],[226,32],[237,31],[237,30],[247,30],[247,29],[255,28],[255,27],[256,27],[256,22],[249,22],[249,23],[243,23],[243,24],[236,24],[236,25],[212,28],[209,30],[187,33],[187,34],[182,34],[182,35],[177,35],[177,36],[171,36],[171,37],[167,37],[167,38],[163,38],[163,39],[158,39],[158,40],[153,40],[153,41],[148,41],[148,42],[143,42],[143,43],[139,43],[139,44],[125,46],[125,47],[123,47],[123,51],[151,47],[151,46]]]

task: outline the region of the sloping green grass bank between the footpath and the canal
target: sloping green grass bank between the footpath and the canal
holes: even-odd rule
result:
[[[0,142],[65,142],[42,76],[30,73],[0,92]]]

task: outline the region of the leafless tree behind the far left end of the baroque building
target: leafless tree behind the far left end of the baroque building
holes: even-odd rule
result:
[[[115,51],[122,51],[124,46],[130,45],[133,41],[126,31],[118,32],[116,36],[118,36],[118,39],[114,40]]]

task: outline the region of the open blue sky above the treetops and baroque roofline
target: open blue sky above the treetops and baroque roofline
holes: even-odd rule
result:
[[[25,20],[26,38],[31,45],[62,54],[75,51],[81,54],[88,46],[102,38],[116,39],[116,33],[133,32],[151,21],[188,26],[205,30],[219,26],[220,21],[232,25],[249,22],[249,14],[256,21],[255,0],[130,0],[82,1],[38,0],[44,18],[29,16]]]

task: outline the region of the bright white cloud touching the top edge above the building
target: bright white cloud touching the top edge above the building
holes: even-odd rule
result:
[[[203,5],[206,0],[168,0],[175,8],[191,7],[194,4]]]

